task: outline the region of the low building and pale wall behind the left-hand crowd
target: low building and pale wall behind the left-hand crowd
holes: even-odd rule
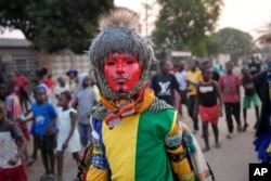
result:
[[[63,51],[59,54],[40,54],[31,49],[31,42],[26,39],[0,38],[0,70],[3,74],[20,69],[26,76],[31,70],[47,67],[53,77],[65,75],[70,67],[78,72],[90,70],[89,56]]]

